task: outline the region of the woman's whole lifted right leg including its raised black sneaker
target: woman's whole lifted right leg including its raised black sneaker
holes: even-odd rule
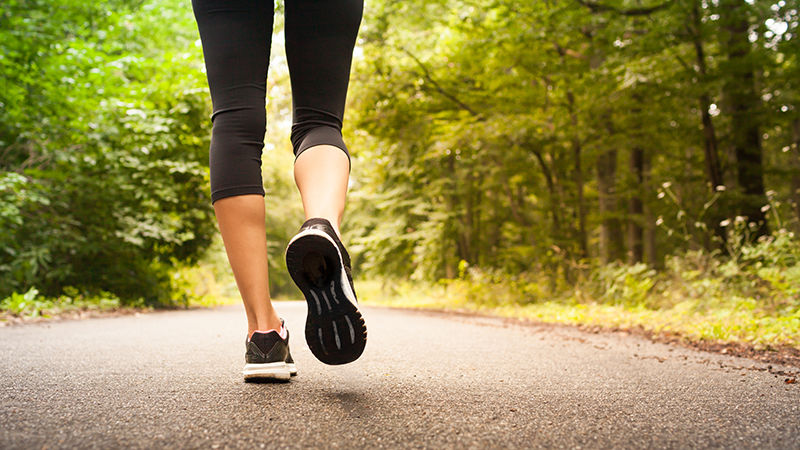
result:
[[[363,0],[286,0],[292,80],[294,174],[306,222],[286,248],[286,266],[308,303],[306,343],[326,364],[358,359],[367,328],[350,256],[339,238],[350,155],[342,119]]]

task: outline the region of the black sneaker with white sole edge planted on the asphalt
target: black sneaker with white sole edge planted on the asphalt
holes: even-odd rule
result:
[[[289,380],[297,375],[297,367],[289,352],[289,331],[286,339],[277,331],[256,331],[245,342],[245,365],[242,374],[245,381]]]

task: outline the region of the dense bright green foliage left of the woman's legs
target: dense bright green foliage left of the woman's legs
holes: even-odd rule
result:
[[[174,0],[4,4],[0,296],[174,302],[215,231],[196,39]]]

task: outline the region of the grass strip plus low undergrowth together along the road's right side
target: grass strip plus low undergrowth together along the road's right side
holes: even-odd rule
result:
[[[513,276],[466,268],[438,283],[359,283],[368,304],[480,311],[544,322],[644,328],[689,339],[800,348],[800,260],[795,237],[775,231],[744,244],[739,259],[703,250],[644,264],[585,268],[552,288],[542,273]]]

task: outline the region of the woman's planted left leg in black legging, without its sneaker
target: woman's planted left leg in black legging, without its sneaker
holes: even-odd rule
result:
[[[213,103],[211,201],[249,334],[280,329],[269,296],[261,151],[272,0],[193,0]],[[248,334],[248,335],[249,335]]]

